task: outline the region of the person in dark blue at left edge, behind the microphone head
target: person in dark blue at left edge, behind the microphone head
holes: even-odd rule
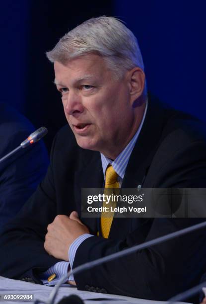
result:
[[[32,132],[34,127],[23,115],[0,103],[0,158],[18,147]],[[0,228],[36,190],[48,164],[43,142],[18,151],[0,163]]]

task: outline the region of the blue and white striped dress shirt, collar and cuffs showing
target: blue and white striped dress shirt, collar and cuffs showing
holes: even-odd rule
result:
[[[103,168],[103,172],[104,172],[104,179],[105,179],[105,172],[107,169],[107,166],[109,164],[111,164],[114,168],[114,170],[116,171],[116,173],[119,175],[118,177],[118,181],[120,184],[120,187],[122,185],[122,181],[125,175],[125,171],[126,171],[126,167],[128,165],[128,161],[130,158],[130,155],[135,147],[135,144],[137,142],[137,138],[139,136],[139,133],[141,131],[144,119],[145,119],[145,115],[146,115],[146,111],[147,111],[147,104],[148,102],[146,101],[146,107],[144,110],[144,115],[143,118],[141,120],[141,124],[136,132],[136,134],[134,135],[134,137],[132,138],[132,140],[130,141],[130,143],[127,145],[127,147],[117,156],[117,158],[115,158],[115,160],[112,160],[108,157],[106,157],[105,155],[101,154],[101,161],[102,161],[102,168]],[[73,266],[73,261],[75,258],[75,254],[76,254],[76,250],[78,249],[79,245],[88,237],[94,236],[92,234],[89,233],[84,233],[82,235],[80,235],[79,237],[77,237],[69,246],[69,252],[68,252],[68,256],[69,256],[69,262],[58,262],[56,263],[54,266],[50,267],[47,271],[45,271],[43,274],[41,274],[40,279],[42,280],[43,284],[47,285],[47,286],[54,286],[56,285],[59,280],[67,274],[69,266],[72,269]],[[51,281],[48,282],[47,279],[49,276],[51,276],[51,274],[55,273],[56,274],[56,278]],[[69,276],[69,281],[74,281],[73,275]],[[66,280],[67,282],[67,280]],[[72,286],[69,285],[68,286]]]

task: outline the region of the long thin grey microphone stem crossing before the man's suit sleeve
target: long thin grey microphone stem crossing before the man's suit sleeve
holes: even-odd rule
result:
[[[165,242],[169,239],[172,239],[172,238],[178,237],[180,235],[184,235],[186,233],[195,231],[197,229],[205,228],[205,227],[206,227],[206,222],[202,222],[200,224],[196,224],[196,225],[193,225],[191,227],[187,227],[187,228],[184,228],[184,229],[181,229],[181,230],[178,230],[178,231],[175,231],[175,232],[157,237],[155,239],[146,241],[144,243],[138,244],[138,245],[133,246],[131,248],[124,249],[120,252],[112,253],[110,255],[104,256],[104,257],[96,259],[94,261],[87,262],[83,265],[77,266],[76,268],[74,268],[72,270],[70,269],[69,272],[64,277],[62,277],[60,282],[52,290],[52,292],[50,293],[50,296],[48,298],[48,301],[45,302],[45,304],[54,304],[55,303],[55,299],[57,297],[57,293],[58,293],[58,290],[60,288],[60,285],[63,284],[69,278],[69,276],[71,274],[77,274],[79,272],[82,272],[82,271],[87,270],[87,269],[91,269],[91,268],[93,268],[97,265],[103,264],[105,262],[110,262],[110,261],[115,260],[119,257],[126,256],[128,254],[133,253],[133,252],[137,252],[138,250],[145,249],[145,248],[153,246],[153,245],[157,245],[157,244]]]

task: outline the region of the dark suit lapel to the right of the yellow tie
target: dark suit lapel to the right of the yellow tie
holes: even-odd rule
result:
[[[131,153],[122,188],[137,188],[143,185],[145,176],[157,150],[162,132],[164,109],[159,102],[148,101],[145,120],[137,139],[137,143]],[[149,187],[149,185],[147,186]],[[125,239],[135,227],[142,225],[140,218],[114,218],[110,229],[110,238]],[[145,219],[147,220],[147,219]]]

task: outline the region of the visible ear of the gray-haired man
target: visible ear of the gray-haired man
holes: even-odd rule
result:
[[[129,81],[131,103],[133,104],[142,95],[145,82],[144,72],[140,68],[135,67],[129,72]]]

